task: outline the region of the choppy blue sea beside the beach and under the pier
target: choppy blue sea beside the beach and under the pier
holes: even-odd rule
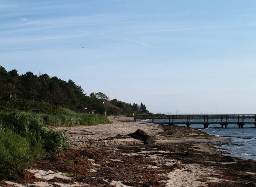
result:
[[[194,120],[198,121],[198,119]],[[212,119],[212,121],[209,122],[217,122],[217,120],[219,121],[219,119]],[[233,119],[230,119],[229,122],[232,122],[232,120]],[[155,122],[167,121],[168,119],[155,120]],[[181,120],[179,122],[181,122]],[[190,122],[193,122],[193,119],[190,119]],[[190,127],[200,129],[210,135],[214,135],[219,138],[231,139],[229,144],[216,146],[219,148],[219,150],[225,149],[228,153],[230,153],[228,155],[239,157],[241,159],[256,160],[256,127],[254,125],[255,119],[244,119],[244,122],[252,122],[253,124],[245,124],[244,128],[238,128],[237,124],[229,124],[227,128],[221,128],[221,125],[219,124],[210,124],[206,129],[204,129],[204,125],[202,124],[192,124]],[[180,126],[186,125],[180,124]]]

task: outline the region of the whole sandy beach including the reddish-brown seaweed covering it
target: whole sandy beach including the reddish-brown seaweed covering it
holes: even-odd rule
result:
[[[133,122],[110,116],[111,124],[59,127],[73,149],[37,161],[18,181],[0,186],[255,187],[256,162],[226,156],[226,142],[201,130]],[[131,137],[143,130],[154,143]]]

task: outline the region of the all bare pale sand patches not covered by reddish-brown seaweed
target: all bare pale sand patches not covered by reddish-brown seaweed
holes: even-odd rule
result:
[[[148,170],[152,169],[152,171],[161,170],[163,166],[164,168],[172,166],[172,168],[174,169],[168,171],[166,170],[167,172],[161,174],[166,178],[166,180],[161,182],[163,182],[167,187],[199,187],[208,186],[209,182],[222,183],[224,181],[227,181],[221,178],[221,174],[218,176],[215,175],[217,171],[216,167],[214,166],[206,166],[204,163],[183,163],[182,160],[178,160],[168,156],[169,154],[172,154],[172,149],[167,151],[161,150],[159,148],[164,144],[169,145],[173,143],[173,146],[175,147],[179,146],[181,143],[189,143],[190,146],[194,147],[195,150],[198,150],[198,154],[200,154],[200,151],[201,153],[204,152],[207,154],[216,154],[216,150],[213,147],[201,143],[221,142],[225,141],[224,139],[218,139],[213,136],[209,137],[202,131],[190,129],[187,127],[169,127],[169,129],[166,130],[164,129],[163,125],[156,125],[146,122],[132,122],[132,118],[128,117],[114,118],[113,116],[110,116],[109,119],[112,122],[111,124],[78,127],[59,127],[58,130],[61,130],[66,133],[68,142],[76,150],[84,149],[85,147],[90,147],[90,149],[93,149],[93,147],[102,147],[95,150],[109,151],[109,153],[112,153],[113,155],[119,153],[121,154],[121,157],[119,158],[143,156],[143,158],[151,159],[151,162],[154,162],[153,165],[146,166],[148,167]],[[130,136],[128,136],[129,133],[134,133],[137,129],[141,129],[148,133],[148,135],[152,136],[156,141],[156,143],[154,144],[155,147],[158,147],[143,147],[144,144],[142,140],[133,139]],[[122,145],[126,147],[120,148],[117,145]],[[111,146],[112,148],[108,147],[105,149],[104,147],[106,146]],[[129,147],[132,148],[130,149]],[[180,154],[182,155],[183,153],[181,152]],[[90,172],[99,172],[99,168],[102,165],[94,163],[94,159],[90,159],[90,161],[92,162],[92,168],[90,169]],[[124,162],[121,161],[120,159],[110,157],[109,161],[107,161],[106,164],[108,165],[108,163],[110,163],[111,161],[113,161],[114,163],[119,163],[119,165]],[[175,164],[177,164],[177,168],[174,167]],[[124,168],[124,170],[126,169]],[[38,178],[47,177],[47,180],[54,177],[71,179],[70,177],[67,177],[67,174],[59,173],[57,170],[44,171],[34,169],[30,171],[34,173],[35,176]],[[124,184],[124,181],[122,180],[115,181],[109,180],[109,178],[102,179],[111,187],[133,186],[128,185],[131,183],[127,182]],[[20,185],[12,183],[10,181],[8,183],[12,184],[13,186]],[[37,182],[29,185],[38,187],[56,186],[55,184],[50,182]],[[58,185],[68,186],[67,184],[57,184],[57,186]],[[152,184],[152,186],[155,187],[161,185],[157,183]],[[75,184],[70,184],[69,186],[88,186],[88,184],[85,181],[76,182]],[[22,185],[20,185],[20,187],[22,187]]]

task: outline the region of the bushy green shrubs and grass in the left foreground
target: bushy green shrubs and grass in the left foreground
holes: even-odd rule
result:
[[[45,128],[38,116],[0,114],[0,178],[14,178],[43,153],[66,147],[64,134]]]

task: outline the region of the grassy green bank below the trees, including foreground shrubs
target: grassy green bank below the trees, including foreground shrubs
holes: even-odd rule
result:
[[[66,111],[42,114],[0,111],[0,178],[16,178],[35,159],[66,149],[66,137],[52,127],[109,123],[106,116]]]

